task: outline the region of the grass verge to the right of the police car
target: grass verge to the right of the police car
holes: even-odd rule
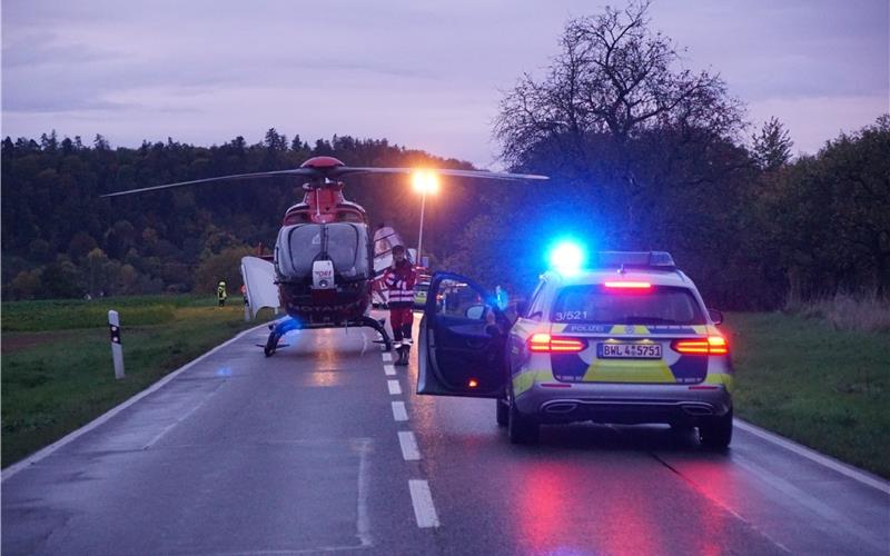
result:
[[[824,319],[730,314],[735,414],[890,478],[890,334]]]

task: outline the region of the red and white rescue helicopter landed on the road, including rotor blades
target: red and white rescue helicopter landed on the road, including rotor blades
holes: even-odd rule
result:
[[[290,319],[283,319],[270,326],[271,331],[264,351],[267,357],[274,354],[278,340],[289,330],[355,326],[367,326],[377,330],[388,351],[392,342],[383,322],[368,315],[372,285],[376,278],[374,235],[369,231],[365,209],[343,196],[345,183],[340,178],[362,173],[412,175],[416,171],[414,168],[348,167],[333,157],[314,157],[291,170],[180,181],[118,191],[102,197],[142,193],[215,181],[290,176],[305,178],[307,181],[303,186],[306,191],[303,201],[285,212],[273,256],[274,284],[278,287],[279,306],[284,307]],[[431,169],[428,171],[458,178],[547,179],[537,175],[477,170]],[[271,276],[271,272],[268,275]],[[247,275],[245,278],[247,281]],[[250,289],[251,285],[248,285],[248,290]]]

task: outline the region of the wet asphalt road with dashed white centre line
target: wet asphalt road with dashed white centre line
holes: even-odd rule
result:
[[[886,481],[743,425],[728,454],[654,426],[512,446],[494,401],[414,395],[416,354],[374,337],[266,359],[248,332],[4,470],[2,553],[890,554]]]

